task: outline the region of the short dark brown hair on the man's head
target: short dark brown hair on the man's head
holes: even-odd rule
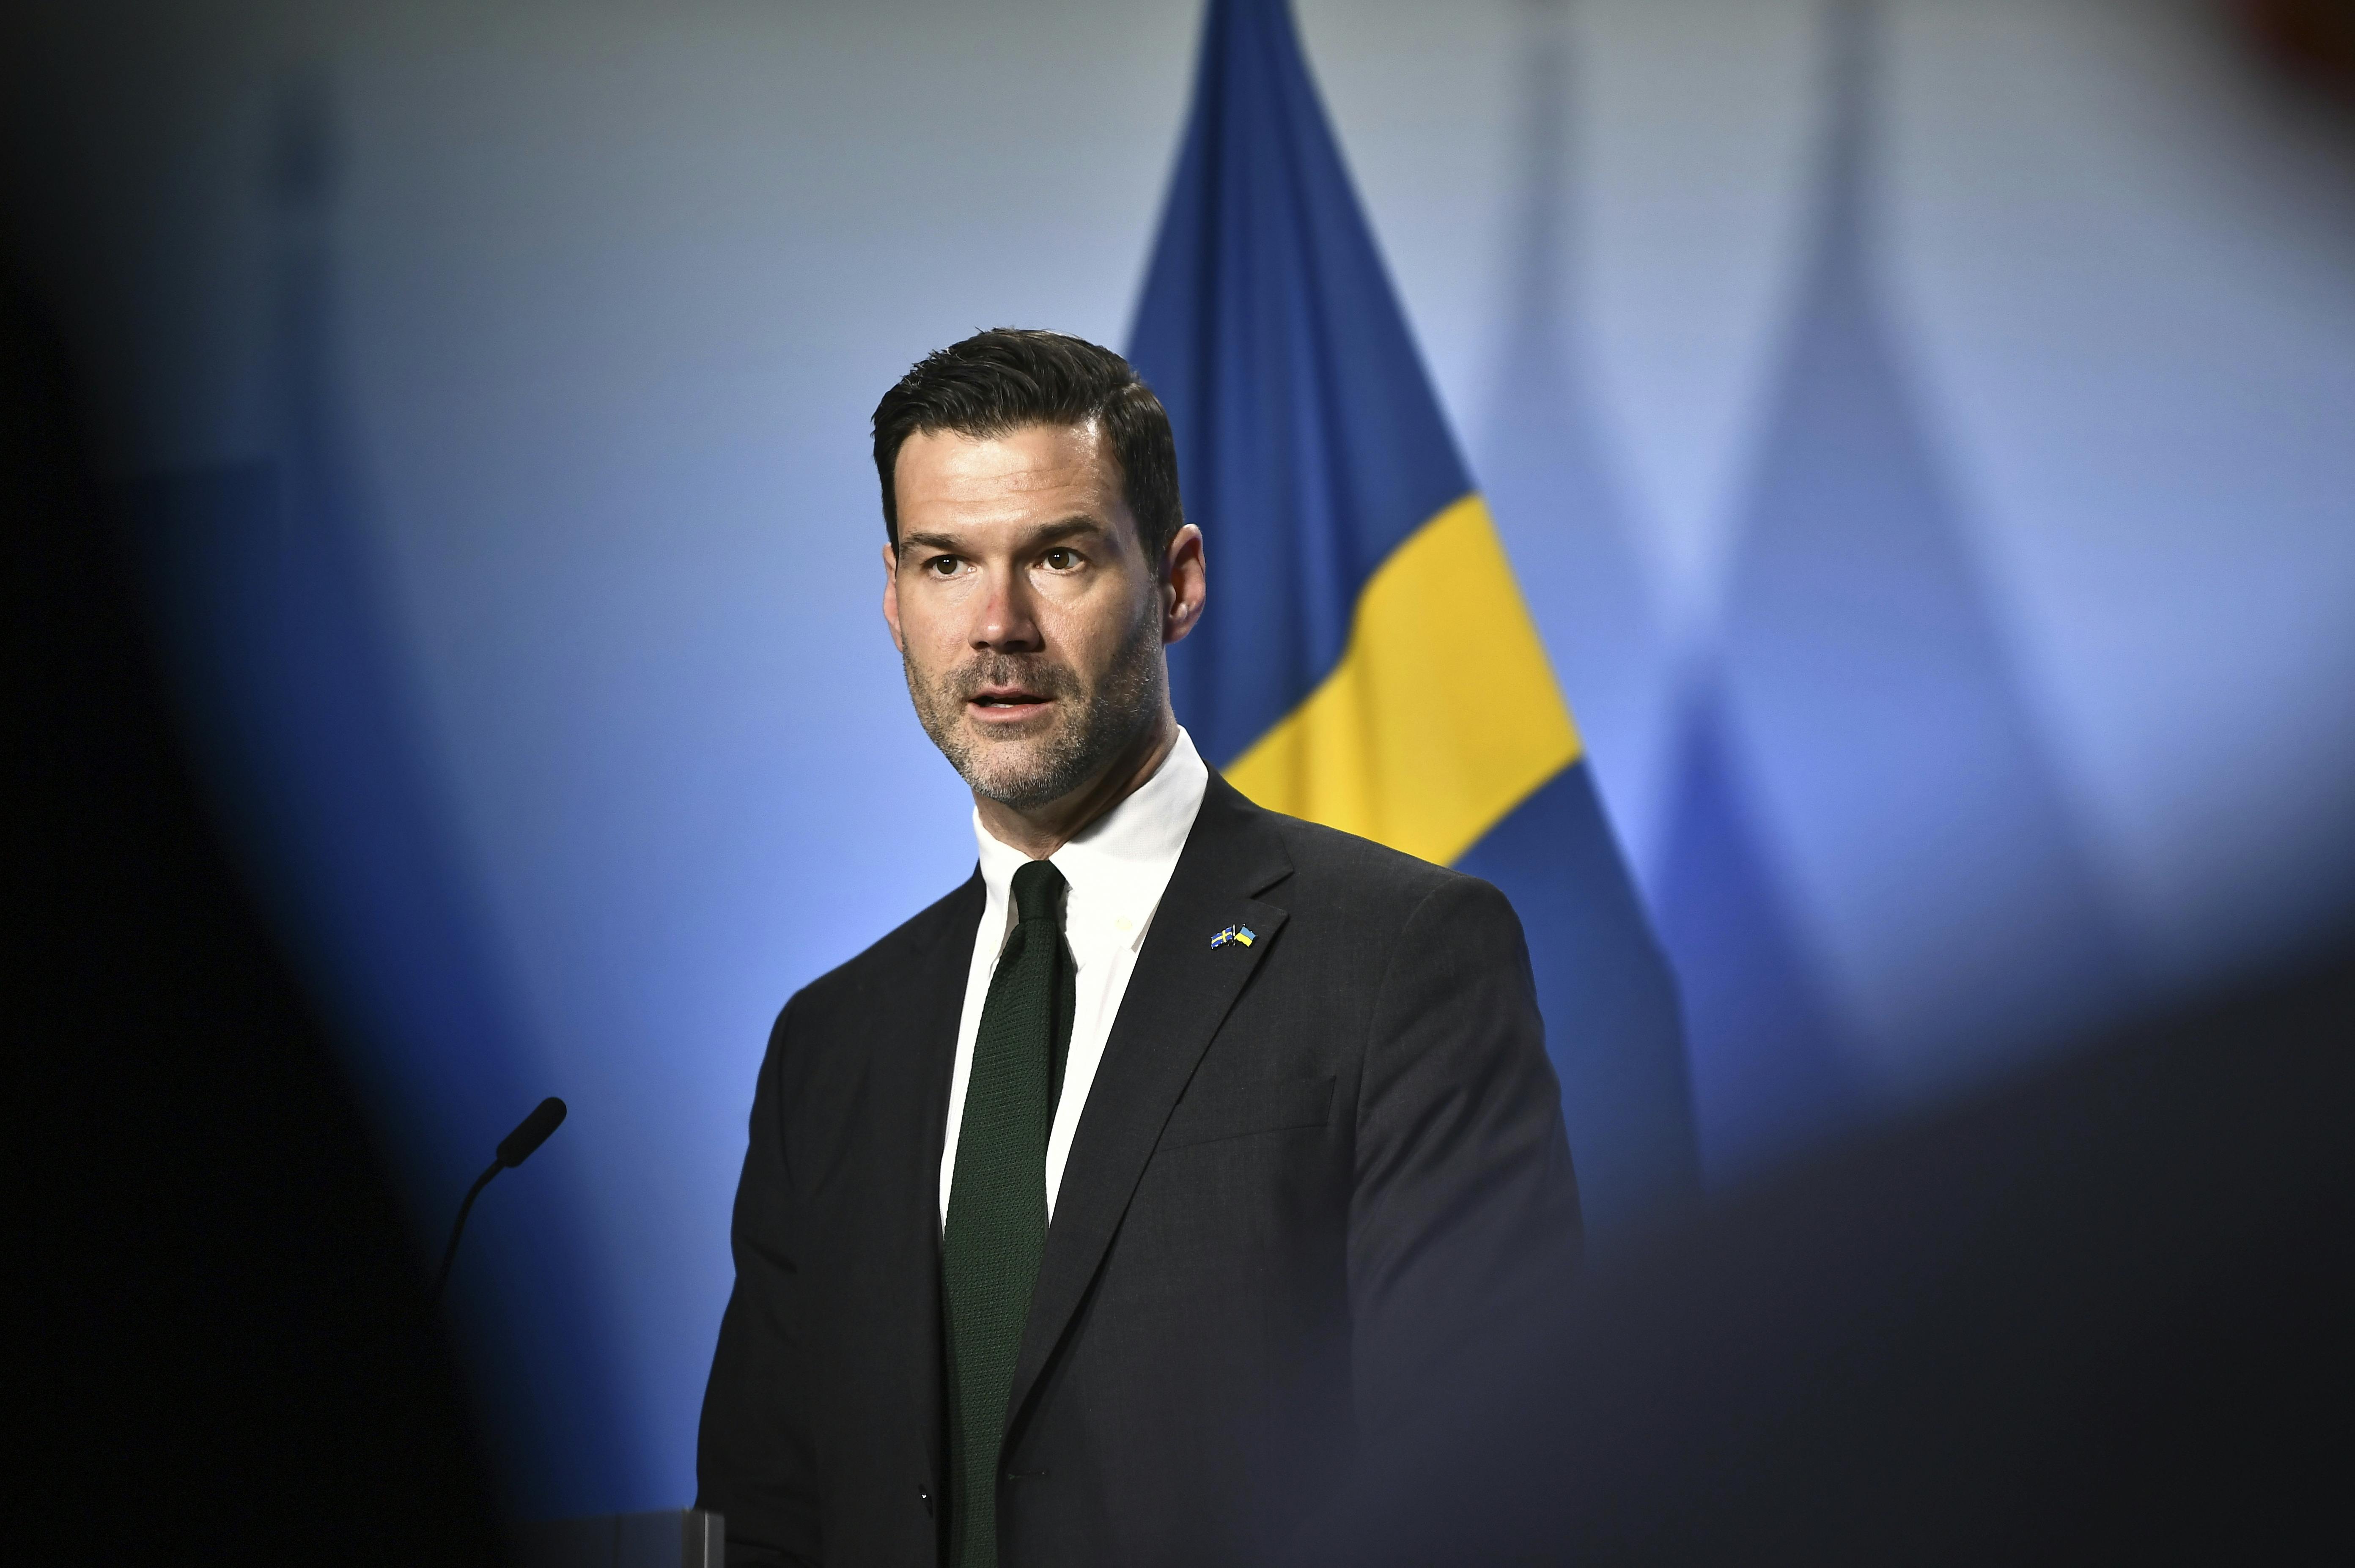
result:
[[[883,480],[883,534],[900,549],[900,494],[893,469],[909,436],[954,431],[975,440],[1034,424],[1095,421],[1121,464],[1121,499],[1154,572],[1185,527],[1178,501],[1178,438],[1170,417],[1137,372],[1112,348],[1062,332],[991,327],[935,348],[876,403],[876,478]]]

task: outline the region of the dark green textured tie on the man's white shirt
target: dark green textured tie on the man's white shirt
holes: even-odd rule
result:
[[[999,954],[973,1038],[940,1278],[949,1328],[949,1561],[996,1568],[999,1443],[1022,1321],[1046,1253],[1046,1135],[1072,1045],[1062,871],[1015,871],[1020,925]]]

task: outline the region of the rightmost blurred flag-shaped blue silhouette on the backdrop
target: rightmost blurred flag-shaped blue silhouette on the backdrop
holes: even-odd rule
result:
[[[2138,984],[1884,297],[1886,26],[1820,12],[1809,250],[1651,878],[1712,1187],[2032,1059]]]

